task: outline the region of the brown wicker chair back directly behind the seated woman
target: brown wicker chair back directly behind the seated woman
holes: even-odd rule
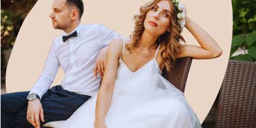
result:
[[[177,59],[175,63],[173,63],[174,67],[172,68],[170,74],[167,74],[166,69],[163,69],[162,76],[174,84],[177,89],[184,92],[191,63],[191,57]]]

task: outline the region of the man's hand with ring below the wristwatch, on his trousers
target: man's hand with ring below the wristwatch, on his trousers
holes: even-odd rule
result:
[[[40,127],[40,121],[44,122],[44,110],[39,99],[29,101],[27,108],[27,121],[31,123],[35,128]]]

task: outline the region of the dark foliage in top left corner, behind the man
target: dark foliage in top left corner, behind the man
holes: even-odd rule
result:
[[[1,50],[14,46],[23,20],[37,0],[1,0]]]

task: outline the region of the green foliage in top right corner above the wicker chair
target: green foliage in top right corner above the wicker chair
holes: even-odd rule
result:
[[[232,0],[233,39],[230,59],[256,61],[256,0]],[[238,48],[245,54],[231,57]]]

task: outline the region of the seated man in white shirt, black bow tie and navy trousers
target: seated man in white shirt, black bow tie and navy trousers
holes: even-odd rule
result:
[[[82,0],[54,0],[52,25],[65,33],[54,39],[44,71],[30,92],[1,95],[2,128],[40,127],[66,120],[97,93],[100,77],[95,77],[93,71],[102,76],[106,48],[101,49],[120,35],[102,25],[82,25],[83,10]],[[60,66],[65,79],[49,89]]]

